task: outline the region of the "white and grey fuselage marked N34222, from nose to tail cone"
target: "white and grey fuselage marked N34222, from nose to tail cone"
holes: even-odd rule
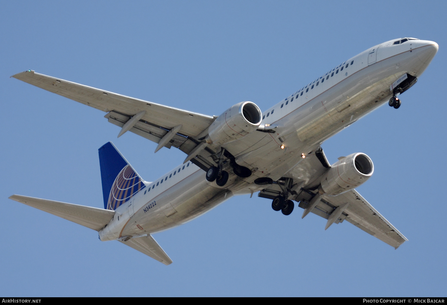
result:
[[[119,206],[112,221],[99,232],[101,240],[180,225],[235,194],[261,190],[262,186],[253,183],[257,177],[283,177],[303,160],[303,154],[388,102],[392,96],[389,87],[396,79],[405,73],[419,77],[438,49],[433,41],[393,45],[394,41],[346,60],[265,111],[262,124],[277,125],[275,133],[255,131],[223,145],[229,152],[239,152],[236,162],[252,169],[252,176],[240,178],[228,170],[228,183],[219,187],[208,182],[206,173],[191,162],[178,166],[154,182],[145,182],[143,191]]]

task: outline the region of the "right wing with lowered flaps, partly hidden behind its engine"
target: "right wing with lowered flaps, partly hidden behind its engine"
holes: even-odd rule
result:
[[[329,167],[323,150],[319,148],[278,180],[279,184],[268,185],[258,196],[273,199],[281,193],[281,188],[287,184],[287,178],[292,178],[292,199],[299,201],[298,206],[305,209],[303,217],[312,212],[328,219],[326,229],[333,223],[346,220],[396,249],[408,240],[356,190],[337,196],[319,195],[316,190],[320,183],[318,178]],[[315,200],[312,202],[313,198]]]

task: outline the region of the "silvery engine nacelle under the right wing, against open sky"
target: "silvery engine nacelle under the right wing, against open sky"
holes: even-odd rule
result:
[[[322,176],[318,191],[330,196],[347,192],[367,181],[373,172],[370,157],[362,152],[353,153],[331,166]]]

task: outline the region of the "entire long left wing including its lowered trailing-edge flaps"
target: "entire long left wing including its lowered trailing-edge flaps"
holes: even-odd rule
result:
[[[69,82],[60,78],[35,73],[33,70],[12,76],[31,85],[51,91],[84,105],[107,112],[105,118],[110,123],[143,136],[153,142],[160,140],[171,130],[174,135],[162,147],[180,148],[189,153],[198,144],[194,137],[205,130],[215,117],[181,110],[173,107],[134,99],[89,86]],[[134,119],[133,121],[131,119]],[[126,123],[128,123],[126,125]],[[125,126],[126,125],[126,126]],[[121,134],[120,134],[121,135]]]

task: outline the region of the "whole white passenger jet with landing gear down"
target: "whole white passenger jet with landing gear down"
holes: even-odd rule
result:
[[[345,220],[397,249],[407,241],[358,192],[374,172],[357,152],[330,165],[321,144],[343,128],[412,87],[438,51],[434,41],[405,37],[386,41],[344,61],[270,109],[253,102],[203,115],[119,95],[27,70],[21,81],[106,112],[121,128],[161,148],[186,153],[183,164],[153,182],[144,181],[118,149],[99,148],[104,209],[12,195],[9,198],[98,231],[163,264],[172,260],[152,234],[181,225],[234,195],[270,199],[272,209],[302,218]]]

